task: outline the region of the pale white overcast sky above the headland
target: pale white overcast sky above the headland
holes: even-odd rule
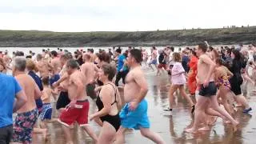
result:
[[[1,30],[136,31],[256,26],[256,0],[0,0]]]

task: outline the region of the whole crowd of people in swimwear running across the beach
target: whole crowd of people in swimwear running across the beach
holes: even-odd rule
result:
[[[243,113],[252,110],[241,85],[255,84],[255,61],[254,45],[214,48],[208,42],[178,51],[173,46],[163,50],[154,46],[150,54],[132,47],[127,50],[113,47],[96,54],[94,49],[76,50],[74,54],[62,49],[42,50],[41,54],[30,51],[28,55],[17,51],[12,58],[8,51],[1,52],[0,143],[32,143],[32,133],[46,138],[50,122],[62,125],[69,144],[73,143],[70,129],[74,123],[95,143],[124,143],[126,130],[140,130],[151,141],[165,143],[150,130],[145,98],[149,87],[144,67],[157,69],[157,76],[170,77],[170,106],[162,110],[164,114],[172,114],[177,90],[190,104],[194,125],[186,132],[210,130],[210,124],[218,117],[236,131],[239,124],[234,119],[236,106],[243,106]],[[8,71],[12,76],[6,74]],[[190,94],[186,94],[186,88]],[[51,105],[52,98],[56,107]],[[89,98],[98,107],[94,114],[89,114]],[[55,109],[58,118],[52,118]],[[13,113],[17,114],[14,121]],[[102,127],[99,135],[88,121]]]

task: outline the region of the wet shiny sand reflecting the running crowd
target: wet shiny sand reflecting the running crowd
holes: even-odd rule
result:
[[[150,71],[150,70],[147,70]],[[255,119],[255,102],[256,96],[250,96],[252,86],[247,86],[246,98],[250,102],[253,111],[250,114],[242,114],[242,108],[238,108],[238,112],[235,114],[235,118],[240,122],[239,129],[233,133],[232,128],[229,125],[223,125],[222,119],[218,118],[214,126],[211,127],[209,132],[203,132],[200,134],[187,134],[184,129],[187,126],[191,126],[193,123],[193,115],[190,114],[190,107],[184,98],[176,94],[174,100],[175,106],[172,116],[164,116],[162,114],[163,107],[168,106],[168,76],[155,76],[155,73],[149,72],[146,74],[146,79],[149,83],[149,92],[146,95],[149,110],[148,115],[151,123],[151,130],[154,130],[164,138],[167,144],[196,144],[196,143],[225,143],[225,144],[254,144],[256,143],[256,119]],[[120,81],[121,82],[121,81]],[[243,86],[244,87],[244,86]],[[55,104],[53,104],[55,106]],[[90,113],[95,110],[94,101],[90,100]],[[54,118],[58,116],[56,110],[54,110]],[[61,125],[58,122],[50,123],[49,132],[50,136],[48,141],[42,141],[41,134],[34,134],[33,143],[35,144],[64,144],[65,136],[62,132]],[[90,122],[90,126],[98,134],[99,127],[94,122]],[[91,138],[88,137],[85,131],[78,126],[74,126],[72,130],[74,143],[84,144],[92,143]],[[130,134],[126,134],[126,143],[144,143],[151,144],[150,140],[143,138],[139,131],[133,131]]]

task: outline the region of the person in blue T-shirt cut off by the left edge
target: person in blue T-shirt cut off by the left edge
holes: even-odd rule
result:
[[[27,98],[17,80],[2,73],[2,62],[0,58],[0,143],[9,144],[13,134],[13,113],[25,105]]]

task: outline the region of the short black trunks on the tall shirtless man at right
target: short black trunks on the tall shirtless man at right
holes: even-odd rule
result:
[[[199,95],[203,97],[210,97],[216,95],[217,93],[217,86],[214,82],[209,82],[207,87],[200,85]]]

